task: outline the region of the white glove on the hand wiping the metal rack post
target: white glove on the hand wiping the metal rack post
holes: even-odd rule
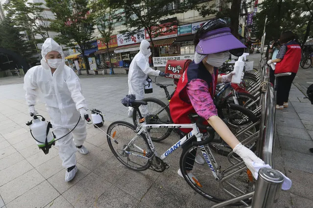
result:
[[[243,160],[244,164],[249,168],[249,170],[253,171],[255,170],[255,167],[252,166],[252,163],[259,163],[264,165],[264,161],[258,158],[249,148],[241,145],[239,143],[238,145],[235,146],[233,151],[238,154],[241,159]]]

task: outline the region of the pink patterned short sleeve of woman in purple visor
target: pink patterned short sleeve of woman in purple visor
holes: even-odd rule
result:
[[[209,92],[208,83],[195,79],[187,84],[187,94],[195,112],[208,120],[211,116],[217,116],[217,108]]]

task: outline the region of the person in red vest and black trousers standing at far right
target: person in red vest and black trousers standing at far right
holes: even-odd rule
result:
[[[288,107],[290,87],[301,60],[301,47],[290,30],[283,32],[279,40],[283,45],[276,59],[269,60],[267,63],[276,63],[274,71],[277,82],[276,109],[283,110],[284,107]]]

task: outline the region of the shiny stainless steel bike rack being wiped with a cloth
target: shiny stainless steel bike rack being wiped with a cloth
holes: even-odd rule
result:
[[[261,60],[262,64],[264,60]],[[260,139],[258,140],[258,153],[259,157],[261,157],[265,164],[269,164],[270,166],[274,166],[273,164],[273,152],[274,152],[274,144],[275,144],[275,94],[273,86],[268,83],[269,76],[268,70],[265,65],[261,65],[260,71],[260,80],[261,80],[261,128],[260,128]],[[249,140],[250,138],[247,138]],[[231,155],[231,153],[230,153]],[[230,156],[229,155],[229,156]],[[234,169],[234,167],[238,168],[243,165],[243,162],[237,163],[234,166],[226,169],[225,172],[229,172]],[[225,180],[232,177],[237,172],[242,171],[244,168],[240,168],[225,178],[221,179],[221,183],[225,183]],[[284,181],[283,175],[272,168],[261,168],[259,170],[259,177],[255,185],[254,191],[248,193],[242,193],[241,190],[237,190],[241,192],[242,195],[235,197],[234,194],[230,193],[224,187],[221,188],[228,194],[234,196],[233,199],[223,201],[218,203],[212,208],[222,208],[227,205],[231,205],[233,203],[241,202],[245,207],[252,208],[268,208],[274,207],[274,203],[277,202],[279,198],[279,193],[281,191],[281,187]],[[228,183],[228,182],[226,182]],[[228,184],[229,185],[229,184]],[[248,206],[244,200],[250,199],[252,197],[252,205]]]

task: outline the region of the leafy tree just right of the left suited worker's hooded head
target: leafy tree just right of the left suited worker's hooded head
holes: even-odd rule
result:
[[[87,7],[88,1],[46,0],[46,2],[56,17],[51,24],[51,28],[59,32],[56,40],[82,54],[87,74],[89,74],[90,67],[85,57],[85,50],[90,47],[89,42],[95,39],[93,36],[95,22]]]

